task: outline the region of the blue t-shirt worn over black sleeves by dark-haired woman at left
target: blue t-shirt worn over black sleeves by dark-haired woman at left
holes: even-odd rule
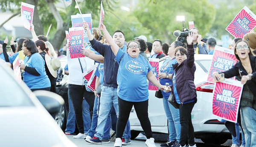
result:
[[[29,60],[28,60],[29,59]],[[44,59],[39,53],[32,54],[24,59],[24,65],[34,67],[40,75],[32,75],[28,72],[23,72],[23,81],[29,89],[40,89],[51,86],[50,80],[45,72]]]

